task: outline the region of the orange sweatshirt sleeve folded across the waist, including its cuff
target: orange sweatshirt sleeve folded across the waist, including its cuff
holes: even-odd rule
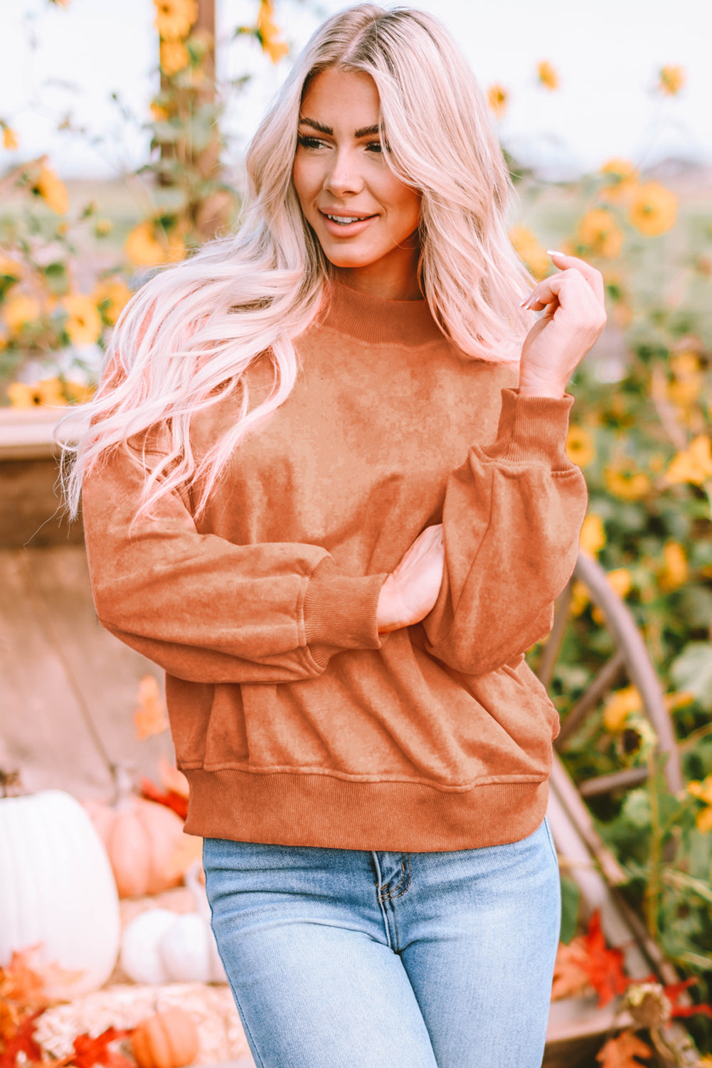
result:
[[[385,574],[344,575],[320,546],[202,534],[176,491],[129,535],[143,478],[126,446],[105,454],[82,485],[94,607],[116,638],[199,682],[308,679],[343,649],[381,647]]]

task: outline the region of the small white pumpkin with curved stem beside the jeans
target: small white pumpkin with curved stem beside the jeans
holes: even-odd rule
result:
[[[197,880],[197,865],[186,875],[196,912],[177,915],[152,909],[124,931],[121,967],[135,983],[226,983],[210,927],[210,909]]]

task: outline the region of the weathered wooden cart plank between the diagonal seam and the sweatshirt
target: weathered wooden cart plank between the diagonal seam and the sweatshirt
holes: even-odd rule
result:
[[[61,650],[65,672],[111,763],[130,764],[136,776],[156,779],[158,758],[174,760],[164,732],[140,741],[133,710],[139,684],[153,675],[163,692],[163,671],[98,623],[83,546],[27,552],[25,582],[43,606],[42,625]]]

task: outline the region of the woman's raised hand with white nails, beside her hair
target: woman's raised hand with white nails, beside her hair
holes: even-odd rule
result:
[[[543,279],[524,307],[544,314],[522,346],[520,393],[563,396],[566,383],[606,324],[603,276],[577,256],[550,252],[558,274]]]

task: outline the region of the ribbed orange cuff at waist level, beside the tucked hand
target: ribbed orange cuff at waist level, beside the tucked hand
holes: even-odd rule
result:
[[[312,571],[304,598],[304,629],[310,653],[325,666],[339,649],[380,649],[378,595],[382,575],[343,575],[331,556]]]

